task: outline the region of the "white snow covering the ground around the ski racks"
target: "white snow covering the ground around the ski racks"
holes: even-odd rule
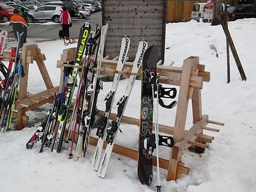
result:
[[[167,171],[160,169],[162,191],[203,192],[203,191],[256,191],[256,141],[255,121],[255,85],[256,85],[256,19],[244,19],[229,22],[229,29],[238,55],[247,76],[241,80],[232,53],[230,52],[231,82],[227,84],[226,38],[221,26],[208,23],[166,24],[165,65],[174,61],[173,66],[182,66],[187,57],[198,56],[205,71],[210,71],[210,82],[204,82],[202,89],[202,111],[209,119],[225,123],[219,133],[205,131],[215,137],[210,148],[205,149],[202,158],[183,155],[182,162],[190,168],[188,175],[182,175],[176,181],[166,181]],[[129,34],[127,34],[129,35]],[[37,41],[29,39],[29,43]],[[7,43],[10,46],[12,43]],[[76,46],[64,46],[62,40],[37,43],[46,55],[46,67],[54,85],[59,84],[60,69],[57,60],[63,49]],[[49,49],[51,47],[51,49]],[[218,57],[216,57],[218,54]],[[127,79],[121,80],[116,101],[124,93]],[[99,94],[98,107],[105,109],[104,97],[111,82],[104,82],[104,90]],[[30,93],[44,90],[43,80],[37,65],[29,66]],[[138,118],[140,105],[140,82],[135,83],[125,115]],[[41,111],[48,110],[50,104],[39,107],[38,111],[27,113],[30,120],[23,130],[0,133],[0,191],[156,191],[156,168],[150,187],[141,185],[137,179],[137,161],[118,154],[112,154],[105,179],[93,171],[91,162],[94,146],[89,146],[87,157],[77,162],[68,159],[69,148],[63,148],[59,154],[50,149],[38,153],[40,144],[27,150],[26,142],[37,129],[36,122],[44,118]],[[116,113],[116,106],[112,112]],[[174,125],[176,108],[160,108],[160,123]],[[186,126],[191,126],[191,106],[188,109]],[[123,133],[118,133],[117,144],[137,149],[138,127],[121,124]],[[95,130],[91,133],[95,136]],[[169,158],[169,149],[160,147],[160,156]]]

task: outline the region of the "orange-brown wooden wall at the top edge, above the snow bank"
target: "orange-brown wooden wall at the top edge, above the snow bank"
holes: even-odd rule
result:
[[[167,1],[166,7],[166,21],[179,22],[186,17],[191,17],[191,11],[194,3],[207,1]]]

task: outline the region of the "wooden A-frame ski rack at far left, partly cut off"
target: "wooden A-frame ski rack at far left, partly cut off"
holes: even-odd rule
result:
[[[15,112],[13,112],[13,117],[17,119],[17,130],[23,129],[25,122],[29,120],[29,116],[26,115],[27,111],[46,103],[52,103],[54,101],[55,94],[59,93],[59,85],[56,87],[53,86],[46,66],[44,65],[46,57],[41,53],[37,44],[23,46],[22,51],[20,50],[20,57],[22,59],[25,76],[21,77],[18,100],[15,102]],[[5,50],[2,57],[2,60],[6,62],[9,62],[9,59],[11,59],[10,49]],[[27,93],[29,64],[34,61],[37,63],[47,89],[40,91],[39,93],[30,94]]]

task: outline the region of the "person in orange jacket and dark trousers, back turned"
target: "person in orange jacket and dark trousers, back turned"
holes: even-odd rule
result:
[[[10,17],[10,24],[12,24],[12,29],[13,33],[16,37],[17,40],[17,32],[20,34],[24,32],[24,27],[27,27],[28,24],[24,20],[22,16],[20,16],[18,9],[13,10],[13,16]],[[24,34],[21,36],[21,41],[20,41],[20,47],[23,46],[23,41],[24,41]]]

